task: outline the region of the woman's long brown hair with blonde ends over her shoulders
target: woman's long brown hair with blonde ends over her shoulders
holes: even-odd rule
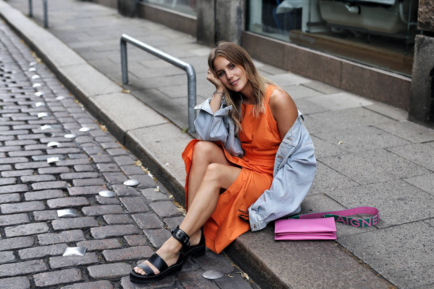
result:
[[[250,88],[253,92],[253,115],[258,117],[259,114],[265,112],[265,93],[268,84],[274,84],[264,78],[258,73],[255,65],[253,64],[252,58],[240,45],[233,44],[228,41],[219,41],[216,43],[213,49],[210,51],[208,56],[208,67],[214,76],[218,79],[217,73],[214,70],[214,59],[217,56],[223,56],[232,64],[241,67],[246,72],[247,79],[249,80]],[[230,111],[230,117],[233,119],[237,131],[241,129],[240,126],[240,114],[241,114],[241,94],[239,92],[231,91],[224,87],[224,96],[226,104],[232,105],[232,110]]]

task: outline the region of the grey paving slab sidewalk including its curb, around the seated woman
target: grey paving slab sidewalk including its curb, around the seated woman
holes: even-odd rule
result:
[[[23,1],[8,2],[26,13]],[[180,130],[187,123],[183,93],[187,91],[186,77],[183,71],[177,72],[145,52],[131,49],[131,83],[125,86],[131,94],[122,93],[122,88],[112,85],[121,79],[118,38],[127,33],[195,63],[198,102],[212,93],[204,76],[206,62],[202,64],[209,48],[198,45],[194,37],[185,33],[145,19],[124,18],[95,3],[66,0],[53,2],[50,7],[48,31],[62,42],[51,39],[49,32],[38,27],[36,23],[42,23],[40,15],[36,14],[36,23],[23,20],[22,14],[4,3],[0,13],[39,57],[57,69],[57,76],[77,91],[92,114],[106,123],[155,175],[164,178],[164,184],[181,201],[185,171],[180,154],[191,140]],[[37,9],[36,4],[34,10]],[[75,21],[78,18],[81,21]],[[65,69],[68,66],[64,60],[55,59],[50,47],[39,43],[37,36],[57,41],[56,47],[62,46],[65,53],[78,53],[82,58],[76,58],[76,65]],[[83,64],[83,58],[93,67]],[[377,273],[398,288],[434,286],[433,130],[406,121],[406,113],[395,107],[260,62],[257,66],[264,76],[293,96],[305,114],[305,125],[316,146],[316,179],[302,203],[302,213],[368,205],[380,210],[381,222],[368,229],[337,224],[336,243],[275,242],[270,224],[262,231],[243,234],[226,252],[243,264],[244,270],[258,276],[261,285],[273,284],[272,288],[387,288],[388,283]],[[82,78],[83,69],[88,71],[88,77],[107,83],[112,89],[98,91],[95,81]],[[104,75],[112,82],[105,80]],[[159,114],[145,105],[137,108],[141,102],[135,97]],[[114,110],[108,101],[119,105],[119,110]],[[146,111],[141,115],[145,121],[137,126],[136,120],[141,118],[125,117],[142,110]],[[157,123],[147,125],[154,120]],[[370,269],[359,265],[347,251]]]

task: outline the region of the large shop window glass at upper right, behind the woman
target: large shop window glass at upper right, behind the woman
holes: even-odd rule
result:
[[[417,0],[250,0],[251,32],[411,75]]]

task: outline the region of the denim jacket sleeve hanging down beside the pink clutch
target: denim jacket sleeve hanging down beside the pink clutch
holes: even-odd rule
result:
[[[313,143],[299,117],[277,149],[273,182],[248,209],[250,228],[258,231],[273,220],[297,214],[316,171]]]

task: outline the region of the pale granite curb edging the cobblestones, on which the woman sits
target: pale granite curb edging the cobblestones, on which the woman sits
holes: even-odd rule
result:
[[[180,153],[174,156],[173,152],[181,152],[192,137],[183,133],[179,127],[158,112],[138,101],[121,86],[88,64],[56,36],[4,1],[0,1],[0,16],[119,142],[143,160],[143,165],[161,180],[162,185],[172,192],[174,198],[184,203],[184,162]],[[96,86],[95,83],[99,85]],[[114,106],[115,110],[113,110]],[[125,118],[126,115],[136,118],[128,120]],[[137,119],[139,116],[140,121]],[[152,133],[151,138],[148,137],[150,133]],[[302,250],[304,248],[295,245],[286,246],[288,243],[283,242],[277,242],[273,245],[273,250],[270,250],[269,247],[267,248],[270,244],[263,243],[261,240],[270,239],[271,234],[273,232],[270,226],[260,232],[247,232],[237,238],[226,250],[229,257],[240,264],[241,269],[255,276],[262,288],[271,288],[270,284],[272,288],[302,288],[299,286],[308,285],[309,283],[305,282],[313,282],[315,279],[318,286],[312,288],[322,288],[325,283],[330,286],[336,285],[335,288],[388,287],[375,272],[365,269],[353,257],[337,249],[333,242],[306,243],[309,245],[306,248],[309,250],[309,255],[306,256],[306,251]],[[340,263],[335,264],[334,269],[321,272],[319,278],[317,269],[324,268],[326,260],[335,259]],[[297,264],[296,270],[304,271],[307,279],[291,281],[291,274],[282,274],[285,272],[283,270],[289,270],[289,266],[294,265],[292,262]],[[304,266],[301,266],[302,263]],[[345,284],[335,283],[335,272],[339,268],[345,268],[347,271]],[[298,274],[301,275],[303,274]],[[299,286],[294,287],[293,282],[299,283]]]

